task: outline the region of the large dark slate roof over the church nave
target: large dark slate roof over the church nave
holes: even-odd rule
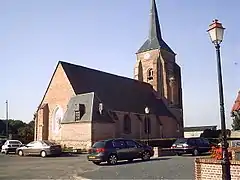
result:
[[[163,101],[156,99],[152,86],[147,83],[63,61],[59,63],[76,94],[94,92],[110,110],[144,114],[148,106],[152,114],[175,118]]]

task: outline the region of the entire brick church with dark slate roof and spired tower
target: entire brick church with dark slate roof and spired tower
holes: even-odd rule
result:
[[[183,137],[181,68],[163,40],[155,0],[134,78],[59,61],[35,113],[35,140],[88,149],[107,138]]]

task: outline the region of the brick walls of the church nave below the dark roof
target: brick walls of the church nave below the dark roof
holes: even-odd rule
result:
[[[130,113],[131,132],[125,134],[123,131],[123,119],[124,115],[129,114],[129,112],[116,112],[118,120],[115,120],[115,123],[84,122],[61,124],[59,132],[54,133],[53,114],[55,109],[61,107],[63,112],[65,112],[67,104],[73,96],[75,96],[75,93],[71,83],[61,64],[59,64],[36,114],[35,140],[48,139],[57,141],[63,146],[87,149],[92,142],[106,138],[147,138],[147,134],[144,132],[144,114],[140,115],[141,119],[139,119],[136,114]],[[182,136],[181,132],[178,131],[179,127],[176,119],[164,116],[160,116],[157,119],[154,115],[149,117],[151,119],[150,138]]]

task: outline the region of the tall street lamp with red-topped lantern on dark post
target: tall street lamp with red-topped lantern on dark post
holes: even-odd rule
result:
[[[220,116],[221,116],[221,129],[222,129],[222,179],[230,180],[230,161],[228,156],[228,143],[226,136],[226,123],[225,123],[225,110],[224,110],[224,97],[223,97],[223,82],[222,82],[222,67],[220,58],[220,44],[223,41],[224,29],[222,24],[217,19],[213,20],[209,25],[207,32],[211,38],[212,43],[216,48],[217,54],[217,73],[218,73],[218,86],[219,86],[219,99],[220,99]]]

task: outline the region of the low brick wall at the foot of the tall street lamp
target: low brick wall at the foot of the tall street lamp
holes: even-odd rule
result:
[[[232,180],[240,179],[240,161],[231,161]],[[197,180],[221,180],[222,165],[220,160],[212,158],[195,159],[195,179]]]

